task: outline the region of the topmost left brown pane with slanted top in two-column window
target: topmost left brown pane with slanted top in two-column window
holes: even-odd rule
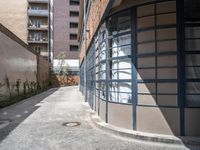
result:
[[[153,15],[154,13],[155,13],[154,4],[137,8],[137,16],[138,17]]]

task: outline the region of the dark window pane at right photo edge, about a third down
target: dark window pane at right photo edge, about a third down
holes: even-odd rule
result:
[[[185,40],[186,51],[200,51],[200,39]]]

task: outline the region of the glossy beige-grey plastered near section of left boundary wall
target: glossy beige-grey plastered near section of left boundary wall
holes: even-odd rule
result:
[[[0,41],[1,100],[9,96],[9,88],[7,88],[6,81],[9,80],[12,95],[16,94],[17,80],[21,80],[21,91],[23,91],[23,83],[25,81],[37,82],[37,56],[2,32],[0,32]]]

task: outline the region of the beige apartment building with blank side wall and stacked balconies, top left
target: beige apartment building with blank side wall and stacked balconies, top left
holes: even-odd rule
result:
[[[0,1],[0,22],[42,56],[52,51],[52,0]]]

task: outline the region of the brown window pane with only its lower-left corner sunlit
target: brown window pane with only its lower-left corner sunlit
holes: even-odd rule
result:
[[[155,69],[138,69],[137,79],[155,79]]]

